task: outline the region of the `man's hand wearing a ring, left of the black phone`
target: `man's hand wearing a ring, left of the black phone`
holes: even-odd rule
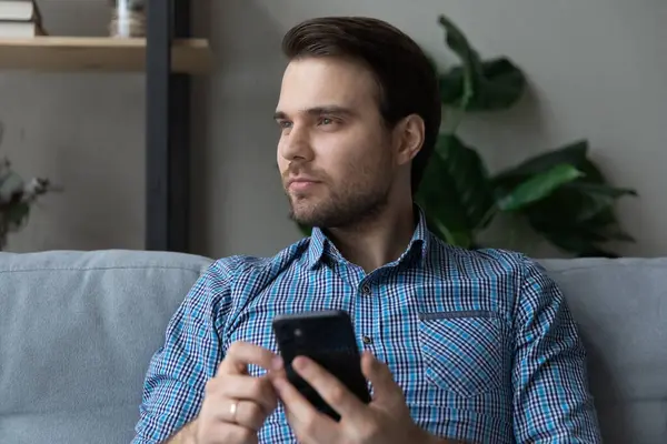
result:
[[[216,376],[206,384],[195,430],[197,444],[257,443],[257,432],[277,406],[269,376],[248,375],[248,365],[267,371],[276,355],[262,347],[235,342]]]

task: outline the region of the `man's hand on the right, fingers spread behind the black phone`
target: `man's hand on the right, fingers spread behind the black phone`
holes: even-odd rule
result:
[[[292,367],[338,412],[340,422],[318,412],[283,375],[272,380],[285,404],[287,418],[305,444],[417,444],[434,441],[410,417],[401,389],[389,369],[371,354],[361,359],[364,375],[374,385],[374,400],[366,405],[321,366],[299,356]]]

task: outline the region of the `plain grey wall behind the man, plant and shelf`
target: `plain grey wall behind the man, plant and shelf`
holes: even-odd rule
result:
[[[58,9],[60,17],[50,12],[62,33],[104,32],[106,0],[41,1],[58,2],[80,3],[74,18],[63,14],[64,7]],[[610,180],[640,193],[619,206],[638,243],[617,250],[667,255],[663,0],[193,3],[197,31],[210,34],[217,58],[216,72],[197,82],[195,94],[196,252],[272,254],[299,236],[287,219],[271,120],[285,65],[280,39],[291,26],[316,16],[378,17],[446,64],[454,59],[436,24],[445,12],[484,56],[510,57],[532,84],[532,93],[515,110],[464,125],[466,139],[481,149],[491,169],[587,138]],[[30,226],[12,239],[12,250],[142,248],[142,82],[141,75],[0,75],[0,119],[13,134],[0,151],[9,151],[22,171],[48,174],[68,188],[44,201]],[[91,208],[82,205],[87,200]]]

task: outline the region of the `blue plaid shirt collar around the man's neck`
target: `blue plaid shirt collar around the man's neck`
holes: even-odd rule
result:
[[[426,222],[426,215],[421,208],[415,205],[415,213],[417,215],[417,225],[412,238],[406,249],[405,253],[396,261],[401,263],[414,255],[417,255],[417,260],[420,265],[424,264],[428,249],[430,232]],[[308,266],[315,269],[325,258],[330,258],[335,261],[342,260],[342,255],[334,245],[334,243],[327,238],[325,232],[319,228],[313,228],[310,234],[310,244],[308,246]]]

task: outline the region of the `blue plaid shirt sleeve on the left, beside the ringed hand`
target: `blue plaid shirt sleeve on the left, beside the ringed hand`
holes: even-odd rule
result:
[[[195,283],[167,326],[143,383],[132,444],[161,443],[197,416],[206,382],[222,360],[218,313],[225,313],[231,273],[220,261]]]

